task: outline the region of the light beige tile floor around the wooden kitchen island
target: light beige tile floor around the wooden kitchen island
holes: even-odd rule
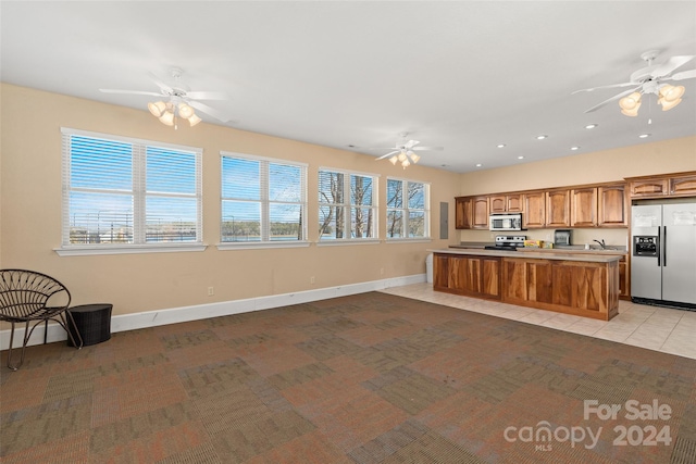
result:
[[[467,311],[572,331],[696,360],[696,312],[619,302],[609,322],[433,291],[433,285],[390,287],[397,294]]]

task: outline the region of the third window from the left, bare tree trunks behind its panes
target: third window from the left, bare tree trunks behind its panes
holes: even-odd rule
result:
[[[319,171],[320,240],[377,237],[376,177]]]

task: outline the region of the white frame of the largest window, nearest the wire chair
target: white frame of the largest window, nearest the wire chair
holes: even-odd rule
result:
[[[72,137],[85,137],[109,142],[127,143],[132,146],[132,175],[130,188],[127,190],[99,189],[86,187],[73,187],[72,173]],[[147,150],[148,148],[164,149],[190,153],[195,162],[195,192],[153,192],[147,190]],[[133,137],[117,136],[113,134],[94,133],[88,130],[61,127],[61,154],[62,154],[62,199],[61,199],[61,246],[53,249],[60,256],[90,255],[90,254],[125,254],[125,253],[153,253],[153,252],[183,252],[203,251],[203,220],[202,220],[202,153],[203,149],[146,140]],[[133,200],[133,243],[71,243],[71,193],[114,193],[129,196]],[[148,242],[147,225],[147,199],[150,198],[191,198],[196,203],[195,240],[183,242]]]

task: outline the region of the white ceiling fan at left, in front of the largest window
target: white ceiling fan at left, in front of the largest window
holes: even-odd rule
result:
[[[160,97],[162,100],[148,103],[148,109],[159,117],[163,124],[169,126],[175,125],[175,116],[188,120],[191,126],[200,123],[200,117],[195,114],[192,109],[209,114],[214,118],[227,123],[231,117],[224,112],[215,110],[198,100],[227,100],[227,96],[217,91],[191,91],[190,88],[182,81],[184,72],[178,67],[170,70],[172,84],[166,84],[152,73],[150,78],[159,87],[160,91],[148,90],[122,90],[122,89],[99,89],[104,93],[125,93],[125,95],[147,95]]]

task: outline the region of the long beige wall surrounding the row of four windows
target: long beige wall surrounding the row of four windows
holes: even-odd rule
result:
[[[206,304],[425,273],[428,248],[459,241],[453,197],[459,175],[422,166],[407,171],[349,151],[211,124],[166,127],[147,110],[114,106],[3,84],[1,108],[0,267],[47,273],[65,284],[73,304],[111,302],[115,314]],[[203,148],[203,252],[59,256],[61,127]],[[309,164],[307,248],[220,251],[220,151]],[[386,176],[431,183],[432,242],[316,246],[320,166],[380,178],[380,230],[385,230]],[[439,240],[439,203],[449,203],[449,240]],[[384,233],[381,234],[384,239]],[[384,274],[381,269],[384,268]],[[315,276],[314,285],[310,277]],[[214,297],[207,296],[214,287]]]

